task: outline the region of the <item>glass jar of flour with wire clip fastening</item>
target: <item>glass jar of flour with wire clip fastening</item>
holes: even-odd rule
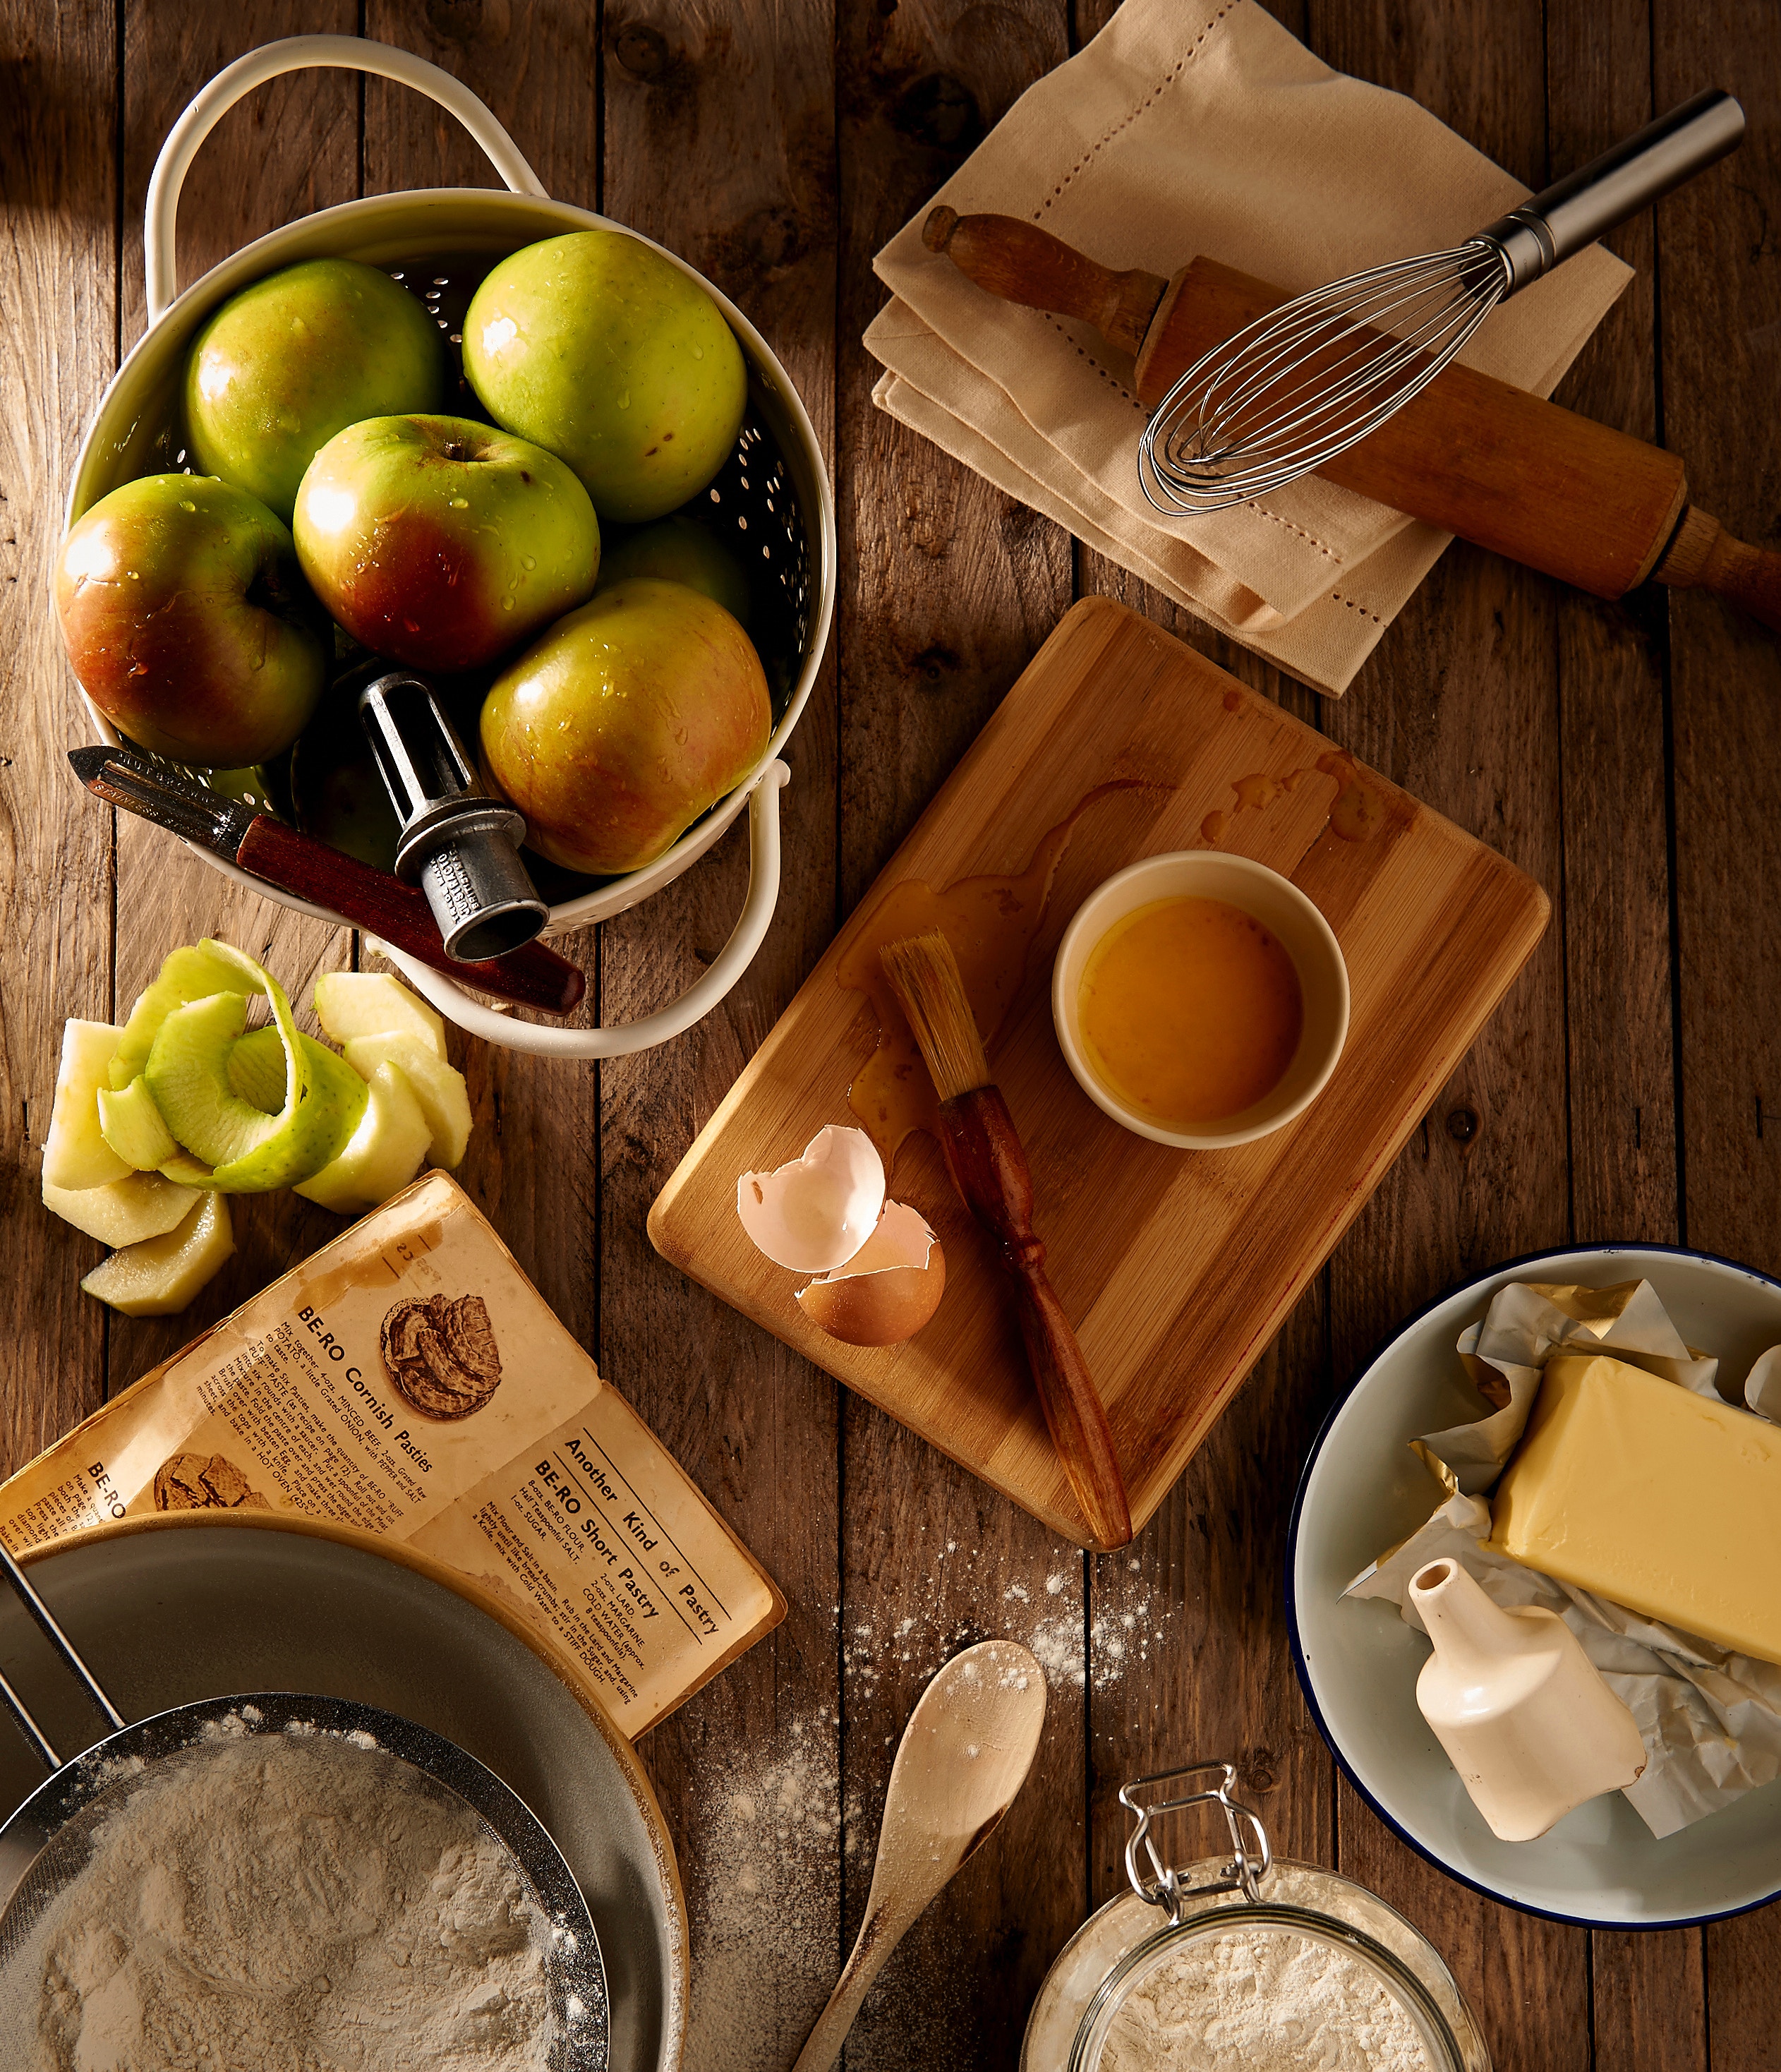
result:
[[[1058,1952],[1021,2072],[1489,2072],[1433,1946],[1365,1886],[1276,1859],[1234,1790],[1224,1761],[1120,1788],[1131,1890]],[[1201,1805],[1230,1854],[1174,1869],[1156,1823]]]

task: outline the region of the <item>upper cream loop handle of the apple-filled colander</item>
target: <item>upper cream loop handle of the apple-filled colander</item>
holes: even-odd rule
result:
[[[217,77],[197,93],[186,112],[168,131],[149,178],[149,205],[143,215],[143,271],[149,288],[149,323],[162,317],[180,292],[176,234],[180,213],[180,189],[186,184],[193,160],[205,137],[217,126],[242,95],[263,87],[280,73],[306,73],[311,68],[333,68],[346,73],[375,73],[379,79],[396,79],[404,87],[414,87],[449,114],[458,116],[466,131],[483,145],[495,172],[516,195],[545,195],[545,182],[520,155],[520,147],[464,85],[437,64],[416,58],[410,50],[393,44],[375,44],[364,35],[288,35],[280,44],[265,44],[251,50],[234,64],[226,64]]]

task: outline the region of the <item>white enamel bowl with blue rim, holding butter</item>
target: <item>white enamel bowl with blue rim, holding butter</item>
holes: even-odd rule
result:
[[[1688,1927],[1762,1906],[1781,1894],[1781,1780],[1661,1842],[1619,1792],[1578,1807],[1537,1842],[1499,1842],[1417,1709],[1429,1643],[1396,1606],[1342,1600],[1367,1562],[1429,1515],[1435,1486],[1406,1440],[1479,1413],[1454,1341],[1510,1280],[1651,1280],[1682,1336],[1719,1355],[1731,1394],[1752,1359],[1781,1345],[1781,1283],[1669,1245],[1510,1260],[1412,1316],[1330,1413],[1298,1481],[1286,1622],[1311,1714],[1373,1811],[1493,1900],[1615,1929]]]

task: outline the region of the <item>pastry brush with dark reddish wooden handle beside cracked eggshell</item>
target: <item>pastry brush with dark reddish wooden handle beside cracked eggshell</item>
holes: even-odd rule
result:
[[[1046,1278],[1046,1247],[1033,1231],[1033,1177],[990,1063],[959,959],[940,932],[886,943],[878,953],[940,1096],[940,1148],[959,1200],[1000,1245],[1015,1283],[1027,1365],[1052,1444],[1089,1523],[1096,1548],[1131,1539],[1131,1506],[1106,1409],[1062,1303]]]

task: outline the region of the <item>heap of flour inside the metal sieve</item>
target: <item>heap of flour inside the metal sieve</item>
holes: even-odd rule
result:
[[[551,1927],[406,1763],[222,1736],[147,1772],[6,1964],[21,2072],[547,2072]],[[19,2012],[14,2012],[19,2010]]]

